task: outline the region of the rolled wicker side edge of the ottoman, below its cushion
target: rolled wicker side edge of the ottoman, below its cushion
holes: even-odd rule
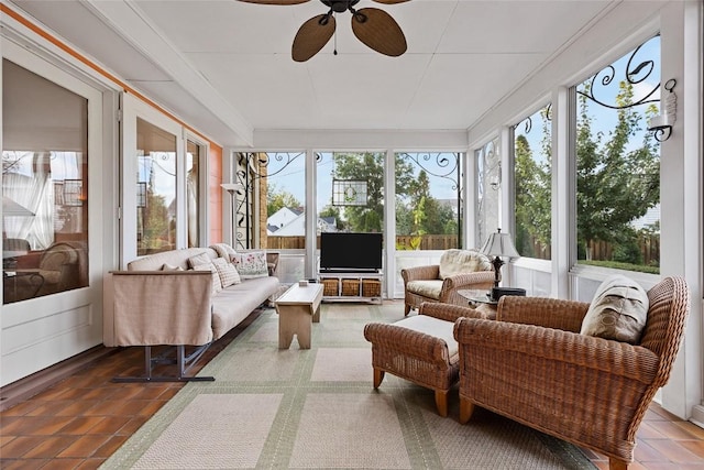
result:
[[[439,367],[446,365],[450,359],[444,340],[394,324],[366,324],[364,338],[375,347],[395,350],[420,361],[432,358]]]

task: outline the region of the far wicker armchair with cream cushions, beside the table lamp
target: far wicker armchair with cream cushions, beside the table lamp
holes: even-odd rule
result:
[[[468,261],[466,272],[458,273],[457,259]],[[453,264],[450,269],[446,266]],[[444,275],[444,273],[451,273]],[[407,267],[400,271],[404,278],[405,310],[408,316],[413,308],[418,308],[424,302],[439,302],[468,306],[468,299],[462,297],[460,289],[486,289],[494,286],[494,271],[488,259],[475,250],[447,250],[440,258],[440,264],[429,266]]]

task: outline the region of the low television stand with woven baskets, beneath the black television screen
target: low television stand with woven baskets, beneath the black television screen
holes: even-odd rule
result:
[[[322,302],[373,302],[382,303],[384,273],[371,272],[318,272],[322,284]]]

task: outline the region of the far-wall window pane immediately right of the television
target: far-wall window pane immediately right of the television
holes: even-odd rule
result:
[[[460,247],[460,153],[396,154],[396,249]]]

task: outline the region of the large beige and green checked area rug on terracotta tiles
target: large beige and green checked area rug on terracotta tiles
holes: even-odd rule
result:
[[[574,446],[477,408],[460,425],[433,393],[386,374],[372,386],[370,321],[403,304],[323,304],[312,346],[278,349],[264,309],[103,469],[594,469]]]

